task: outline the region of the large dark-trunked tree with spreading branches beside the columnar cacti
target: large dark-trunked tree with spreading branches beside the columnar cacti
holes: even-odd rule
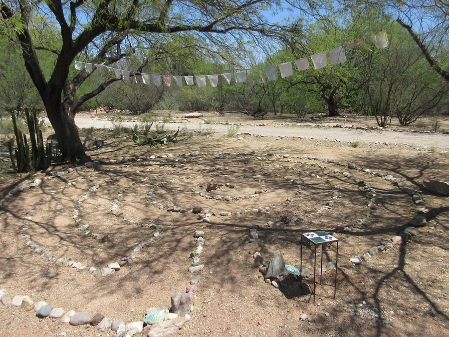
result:
[[[323,1],[293,0],[285,3],[296,7],[304,16],[313,16],[321,15],[323,8],[329,6]],[[126,58],[136,48],[151,49],[167,36],[182,34],[197,36],[214,45],[211,53],[229,50],[244,57],[248,45],[269,50],[267,47],[272,39],[287,43],[299,36],[299,21],[283,25],[267,22],[263,13],[280,9],[282,2],[1,0],[0,33],[18,41],[26,70],[43,101],[63,156],[76,160],[86,158],[75,125],[77,109],[117,79],[108,78],[92,91],[77,97],[76,91],[90,73],[83,70],[69,78],[75,59],[111,64]],[[36,16],[58,29],[60,43],[57,48],[33,33],[33,18]],[[123,50],[126,43],[130,48]],[[36,50],[56,55],[49,76],[45,76]],[[145,63],[141,68],[144,66]]]

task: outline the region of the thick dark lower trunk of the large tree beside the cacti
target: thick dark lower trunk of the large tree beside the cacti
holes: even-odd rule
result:
[[[74,111],[65,111],[61,102],[46,106],[47,116],[61,148],[63,160],[88,160],[75,125]]]

